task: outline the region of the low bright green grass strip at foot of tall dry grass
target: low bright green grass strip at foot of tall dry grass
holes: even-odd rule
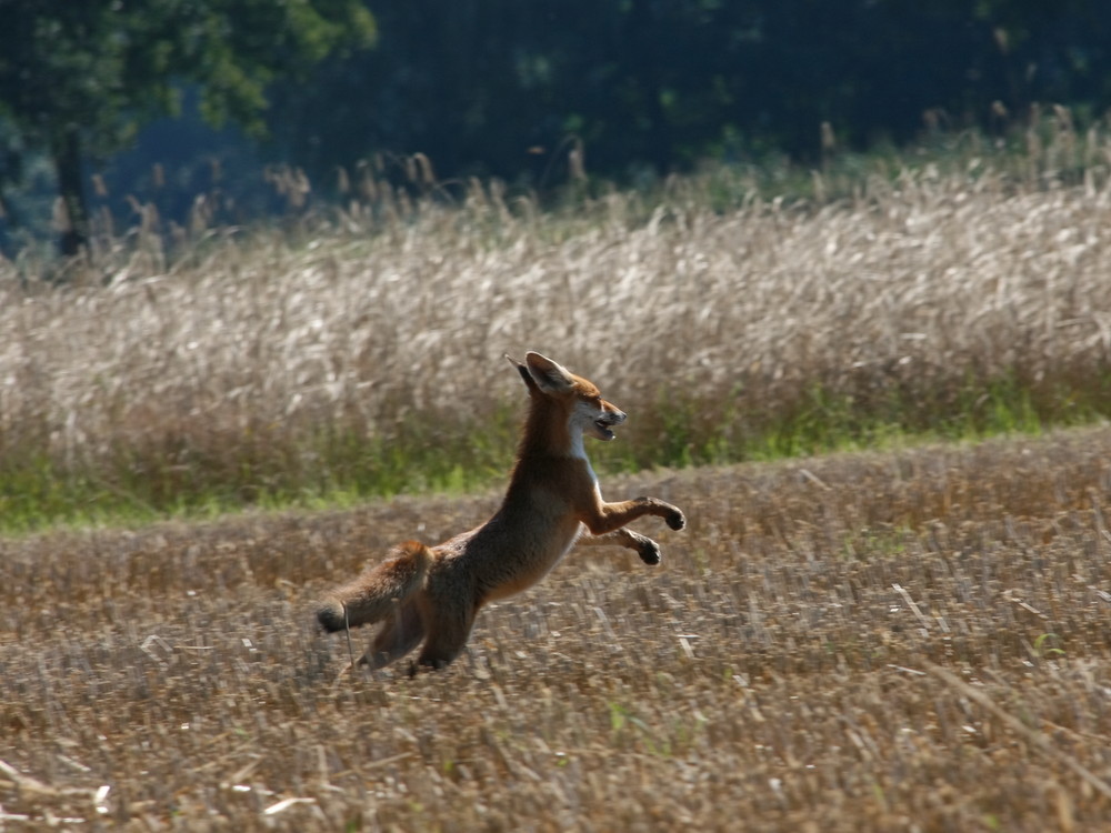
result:
[[[1069,391],[1048,399],[1045,405],[1053,410],[1043,412],[1031,404],[1027,389],[1001,384],[989,385],[987,393],[979,390],[965,391],[957,410],[891,405],[874,412],[859,408],[852,397],[813,391],[797,412],[748,433],[741,433],[735,413],[714,412],[718,421],[708,421],[711,403],[661,402],[660,408],[669,404],[671,411],[660,419],[658,444],[595,444],[592,458],[595,468],[607,473],[771,461],[938,440],[1038,434],[1111,413],[1105,383],[1079,395]],[[1057,405],[1065,395],[1074,401],[1062,414]],[[1083,401],[1075,401],[1080,397]],[[523,399],[518,405],[523,410]],[[459,433],[402,430],[389,441],[324,436],[304,449],[266,453],[261,446],[243,444],[220,460],[198,456],[151,469],[127,452],[117,458],[114,470],[66,469],[41,455],[20,460],[11,454],[0,474],[0,530],[133,525],[170,516],[210,518],[249,506],[339,508],[401,493],[460,494],[498,488],[512,464],[519,422],[504,415],[491,424],[464,424]]]

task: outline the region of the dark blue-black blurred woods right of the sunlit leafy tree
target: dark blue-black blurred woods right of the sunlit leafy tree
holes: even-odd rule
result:
[[[271,128],[314,173],[420,151],[441,177],[544,184],[568,137],[589,169],[682,169],[768,150],[811,161],[999,129],[1032,102],[1111,104],[1100,0],[407,0],[370,2],[378,48],[279,86]],[[827,141],[830,138],[827,131]],[[563,145],[565,147],[565,145]]]

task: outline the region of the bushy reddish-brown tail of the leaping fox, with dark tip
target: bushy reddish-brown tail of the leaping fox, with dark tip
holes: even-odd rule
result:
[[[399,544],[387,561],[333,591],[317,611],[317,621],[334,633],[386,619],[424,585],[432,558],[432,551],[418,541]]]

